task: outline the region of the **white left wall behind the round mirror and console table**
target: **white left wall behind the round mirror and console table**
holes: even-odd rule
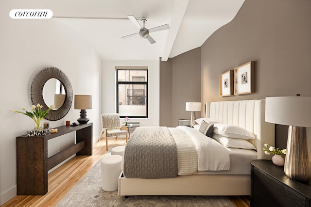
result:
[[[93,122],[95,138],[102,111],[101,60],[85,39],[55,19],[11,19],[11,9],[16,9],[11,1],[0,6],[0,205],[16,195],[16,137],[34,127],[29,117],[10,110],[31,110],[30,86],[41,68],[60,68],[73,94],[92,95],[93,109],[87,110],[87,117]],[[76,121],[79,111],[73,103],[63,119],[49,121],[51,127]],[[49,155],[74,142],[74,133],[62,137],[49,141]]]

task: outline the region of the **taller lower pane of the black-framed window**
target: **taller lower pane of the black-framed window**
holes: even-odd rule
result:
[[[119,84],[119,115],[146,116],[146,85]]]

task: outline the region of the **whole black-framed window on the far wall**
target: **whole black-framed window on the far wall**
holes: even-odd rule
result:
[[[148,70],[117,69],[117,113],[120,117],[148,117]]]

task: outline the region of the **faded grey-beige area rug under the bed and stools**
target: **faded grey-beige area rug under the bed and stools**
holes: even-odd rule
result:
[[[107,152],[104,156],[109,156]],[[103,157],[104,157],[103,156]],[[101,188],[101,160],[56,207],[234,207],[226,196],[119,196]]]

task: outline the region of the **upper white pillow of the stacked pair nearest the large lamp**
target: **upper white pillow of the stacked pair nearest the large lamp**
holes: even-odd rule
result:
[[[214,133],[223,135],[230,138],[238,138],[244,140],[255,139],[255,136],[252,132],[247,131],[246,129],[234,125],[215,123],[214,124]]]

